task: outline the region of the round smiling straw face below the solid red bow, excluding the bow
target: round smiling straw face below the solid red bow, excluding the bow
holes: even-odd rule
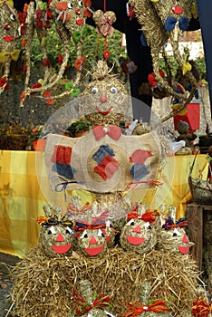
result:
[[[148,253],[157,243],[155,229],[148,222],[131,219],[120,235],[120,245],[125,251]]]

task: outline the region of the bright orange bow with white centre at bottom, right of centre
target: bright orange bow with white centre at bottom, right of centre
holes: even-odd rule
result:
[[[168,312],[169,308],[165,301],[155,301],[149,305],[140,302],[129,303],[130,310],[125,313],[125,317],[137,317],[143,312]]]

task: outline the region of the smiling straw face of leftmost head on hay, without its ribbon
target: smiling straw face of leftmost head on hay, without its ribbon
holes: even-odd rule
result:
[[[39,245],[42,246],[43,254],[48,257],[67,256],[72,255],[76,238],[70,226],[42,227]]]

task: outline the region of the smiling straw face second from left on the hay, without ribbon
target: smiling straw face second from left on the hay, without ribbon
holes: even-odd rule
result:
[[[101,229],[83,230],[78,238],[78,246],[87,256],[100,256],[107,250],[106,237]]]

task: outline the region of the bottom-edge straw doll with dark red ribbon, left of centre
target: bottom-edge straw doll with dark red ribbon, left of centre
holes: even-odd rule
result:
[[[110,309],[111,299],[104,293],[93,292],[92,283],[88,280],[81,280],[79,283],[80,293],[73,290],[72,300],[75,304],[73,313],[69,317],[112,317]]]

